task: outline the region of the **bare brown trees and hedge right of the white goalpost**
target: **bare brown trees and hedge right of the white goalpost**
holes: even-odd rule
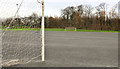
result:
[[[62,9],[61,17],[50,17],[48,27],[65,28],[76,27],[88,30],[120,30],[120,19],[116,12],[117,4],[107,12],[107,4],[101,3],[96,7],[91,5],[69,6]]]

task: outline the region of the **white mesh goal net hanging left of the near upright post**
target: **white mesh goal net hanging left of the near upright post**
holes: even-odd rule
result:
[[[26,3],[15,4],[15,16],[2,23],[2,66],[41,62],[41,6]]]

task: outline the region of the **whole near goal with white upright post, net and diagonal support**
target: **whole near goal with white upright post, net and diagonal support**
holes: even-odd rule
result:
[[[37,0],[38,1],[38,0]],[[29,62],[44,62],[45,61],[45,21],[44,21],[44,0],[42,4],[42,21],[38,17],[35,21],[34,17],[29,21],[29,18],[24,18],[17,24],[22,26],[23,29],[26,28],[37,28],[37,30],[9,30],[16,29],[16,23],[18,23],[18,18],[16,18],[20,6],[18,7],[15,16],[11,19],[8,27],[3,28],[2,33],[2,66],[11,66],[15,64],[24,64]],[[32,23],[33,22],[33,23]],[[41,28],[38,28],[41,22]],[[3,27],[6,25],[3,24]],[[18,28],[18,27],[17,27]],[[39,30],[40,29],[40,30]]]

